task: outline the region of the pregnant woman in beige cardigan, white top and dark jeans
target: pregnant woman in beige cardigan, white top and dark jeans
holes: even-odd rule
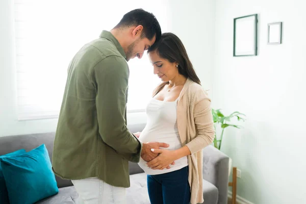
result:
[[[166,149],[152,149],[159,153],[152,161],[141,159],[139,162],[148,174],[150,202],[202,203],[201,150],[213,142],[215,135],[211,100],[202,90],[186,49],[177,36],[162,34],[149,48],[148,55],[162,83],[147,105],[145,129],[136,136],[142,142],[158,141],[170,145]]]

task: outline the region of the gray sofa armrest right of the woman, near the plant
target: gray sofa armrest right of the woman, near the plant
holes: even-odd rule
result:
[[[227,203],[229,158],[209,145],[203,149],[203,179],[218,189],[218,204]]]

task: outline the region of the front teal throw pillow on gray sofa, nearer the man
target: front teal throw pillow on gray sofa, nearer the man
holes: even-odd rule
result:
[[[11,204],[32,204],[59,192],[44,144],[0,162]]]

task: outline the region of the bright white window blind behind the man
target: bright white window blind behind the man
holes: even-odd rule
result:
[[[98,38],[102,30],[111,30],[124,13],[140,8],[139,3],[131,4],[130,1],[15,0],[19,120],[58,117],[70,60],[85,43]],[[167,18],[160,4],[156,4],[159,6],[156,9],[151,5],[142,8],[153,12],[162,26],[160,19]],[[162,26],[165,27],[166,24]],[[145,108],[160,80],[153,74],[146,54],[141,60],[130,60],[129,66],[127,111],[135,112]]]

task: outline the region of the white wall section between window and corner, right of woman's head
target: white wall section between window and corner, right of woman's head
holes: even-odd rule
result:
[[[183,41],[204,89],[212,97],[214,67],[215,0],[168,0],[169,30]]]

